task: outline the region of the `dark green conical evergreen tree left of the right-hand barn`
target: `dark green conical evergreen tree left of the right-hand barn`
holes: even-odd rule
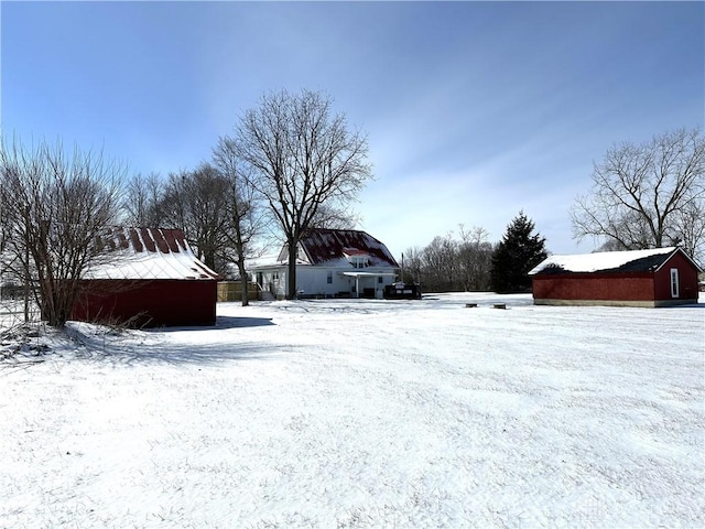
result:
[[[545,237],[532,235],[533,229],[533,222],[523,212],[507,226],[507,233],[492,252],[490,281],[495,292],[531,290],[528,273],[547,257]]]

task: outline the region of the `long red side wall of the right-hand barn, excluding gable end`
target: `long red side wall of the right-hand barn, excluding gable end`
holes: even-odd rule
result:
[[[653,276],[640,273],[562,273],[534,276],[540,300],[653,301]]]

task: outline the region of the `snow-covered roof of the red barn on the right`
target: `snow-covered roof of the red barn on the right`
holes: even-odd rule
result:
[[[550,256],[534,267],[529,272],[529,276],[552,273],[655,272],[676,252],[683,253],[683,256],[699,270],[699,267],[683,252],[683,250],[676,247],[669,247],[650,250],[601,251]]]

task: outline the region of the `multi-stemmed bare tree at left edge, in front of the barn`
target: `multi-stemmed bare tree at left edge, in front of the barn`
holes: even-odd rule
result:
[[[105,255],[97,241],[117,219],[124,168],[101,153],[45,142],[0,145],[4,250],[13,272],[33,287],[42,315],[61,327],[80,279]]]

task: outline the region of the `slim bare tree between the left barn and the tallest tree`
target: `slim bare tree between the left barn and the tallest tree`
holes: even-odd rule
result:
[[[242,306],[249,304],[247,259],[257,255],[254,238],[263,228],[259,203],[252,185],[247,177],[246,168],[238,159],[235,144],[228,138],[220,138],[213,158],[220,174],[228,184],[226,194],[226,230],[224,233],[229,259],[238,267],[242,289]]]

